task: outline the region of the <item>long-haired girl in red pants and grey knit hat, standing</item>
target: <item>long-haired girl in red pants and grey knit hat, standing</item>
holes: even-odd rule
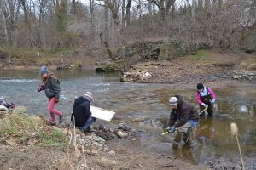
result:
[[[61,111],[55,109],[55,104],[59,102],[61,87],[59,80],[49,73],[47,67],[41,67],[42,84],[38,88],[38,92],[44,90],[46,97],[49,100],[48,111],[50,114],[50,124],[55,125],[55,114],[59,116],[59,123],[63,121],[63,114]]]

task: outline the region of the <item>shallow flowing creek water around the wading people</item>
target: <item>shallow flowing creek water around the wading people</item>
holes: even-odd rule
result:
[[[172,134],[160,135],[166,127],[171,107],[168,99],[180,94],[195,103],[195,82],[173,84],[142,84],[119,82],[120,74],[96,73],[94,70],[55,71],[61,82],[61,100],[56,108],[69,121],[76,97],[90,91],[92,105],[113,110],[116,115],[110,126],[120,122],[137,129],[140,138],[135,141],[144,150],[175,155],[191,163],[207,163],[214,158],[224,158],[237,163],[239,151],[236,138],[231,138],[230,122],[239,127],[239,140],[244,161],[256,169],[256,84],[255,82],[212,82],[209,86],[216,94],[217,107],[212,119],[199,124],[192,147],[180,145],[172,150]],[[15,105],[25,105],[30,115],[47,113],[44,92],[37,93],[38,71],[0,71],[0,96]],[[100,122],[100,121],[99,121]],[[102,122],[107,123],[107,122]]]

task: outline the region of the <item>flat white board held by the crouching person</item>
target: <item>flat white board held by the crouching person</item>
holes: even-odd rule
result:
[[[90,105],[91,116],[104,121],[111,121],[115,112],[104,110],[102,108]]]

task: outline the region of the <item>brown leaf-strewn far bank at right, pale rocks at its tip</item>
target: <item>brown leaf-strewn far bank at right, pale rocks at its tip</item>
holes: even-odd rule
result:
[[[145,83],[256,80],[256,55],[201,52],[169,61],[138,63],[121,81]]]

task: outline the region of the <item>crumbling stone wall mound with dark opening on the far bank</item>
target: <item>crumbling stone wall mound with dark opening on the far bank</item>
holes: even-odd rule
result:
[[[204,42],[190,43],[167,39],[145,39],[129,42],[109,54],[113,59],[96,63],[96,71],[127,71],[138,62],[177,59],[187,54],[196,54],[198,50],[212,48]]]

